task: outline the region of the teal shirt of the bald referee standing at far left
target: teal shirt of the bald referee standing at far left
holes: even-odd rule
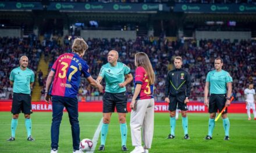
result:
[[[35,75],[32,70],[17,67],[10,72],[10,81],[13,82],[13,93],[30,94],[30,83],[34,82]]]

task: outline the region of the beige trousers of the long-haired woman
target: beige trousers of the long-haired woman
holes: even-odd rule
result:
[[[130,119],[133,146],[141,145],[141,129],[144,148],[151,148],[154,133],[154,99],[137,100]]]

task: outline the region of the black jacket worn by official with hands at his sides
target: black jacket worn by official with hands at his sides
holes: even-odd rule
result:
[[[177,96],[178,94],[185,94],[190,96],[191,80],[187,71],[181,69],[174,69],[169,71],[165,81],[165,97]]]

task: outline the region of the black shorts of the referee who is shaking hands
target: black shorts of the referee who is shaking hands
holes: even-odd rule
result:
[[[122,93],[108,93],[105,92],[103,96],[103,112],[127,112],[127,96],[125,92]]]

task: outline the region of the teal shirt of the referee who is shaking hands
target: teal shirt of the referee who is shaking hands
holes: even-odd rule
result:
[[[119,83],[125,82],[125,75],[130,73],[130,68],[126,64],[118,62],[115,67],[107,63],[102,65],[99,76],[105,79],[106,87],[105,92],[108,93],[121,93],[125,92],[126,88],[120,88]]]

